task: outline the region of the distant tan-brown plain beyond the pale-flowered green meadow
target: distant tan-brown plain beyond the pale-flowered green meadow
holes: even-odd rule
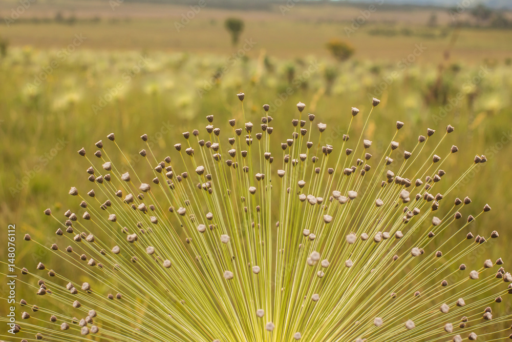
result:
[[[229,10],[207,3],[197,13],[189,13],[190,7],[183,5],[117,3],[120,5],[95,0],[37,2],[9,27],[4,26],[0,36],[16,46],[60,49],[70,44],[76,33],[82,33],[88,37],[84,44],[88,49],[136,47],[223,55],[231,50],[230,37],[224,29],[224,19],[230,16],[244,20],[241,41],[252,39],[258,49],[264,48],[278,58],[309,54],[328,57],[325,43],[331,37],[339,37],[354,46],[355,58],[395,61],[410,54],[415,44],[423,43],[428,46],[423,58],[432,61],[449,44],[454,24],[448,9],[378,5],[379,2],[359,6],[298,3],[291,7],[273,5],[265,10]],[[368,12],[369,4],[375,6],[374,12],[347,36],[347,28],[361,16],[361,11]],[[9,16],[17,5],[15,1],[0,1],[0,13]],[[456,19],[475,22],[469,12],[462,11]],[[190,20],[183,19],[187,14]],[[504,15],[512,17],[506,12]],[[428,27],[432,16],[436,17],[436,24]],[[503,61],[512,51],[507,44],[509,37],[510,30],[465,27],[459,32],[452,57],[471,64],[485,58]]]

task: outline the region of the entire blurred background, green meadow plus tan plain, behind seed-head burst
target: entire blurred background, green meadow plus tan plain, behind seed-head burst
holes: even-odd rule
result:
[[[322,143],[336,148],[350,108],[361,110],[357,130],[371,98],[380,98],[365,135],[376,155],[390,142],[396,120],[406,125],[396,138],[400,151],[411,150],[428,127],[438,139],[452,124],[455,132],[438,153],[459,147],[443,166],[446,187],[475,154],[486,154],[488,163],[452,195],[472,197],[465,216],[486,203],[493,208],[474,223],[475,235],[496,229],[510,241],[509,12],[381,1],[264,2],[250,9],[242,1],[206,1],[191,12],[189,5],[199,3],[40,0],[21,11],[19,2],[0,1],[0,231],[16,224],[18,267],[33,270],[39,259],[50,259],[46,250],[23,248],[24,233],[43,244],[55,237],[58,225],[42,211],[52,208],[63,218],[68,208],[78,209],[69,188],[89,190],[89,165],[77,150],[84,147],[95,158],[94,143],[103,139],[113,151],[106,135],[114,132],[132,165],[142,169],[140,135],[146,133],[164,158],[183,143],[181,132],[205,134],[206,115],[214,114],[214,124],[225,130],[227,119],[241,122],[240,91],[246,117],[257,126],[262,105],[271,106],[276,143],[289,137],[299,101],[328,124]],[[369,9],[364,18],[361,11]],[[16,17],[13,10],[18,17],[6,19]],[[228,17],[245,24],[236,46],[224,27]],[[333,39],[348,43],[353,55],[336,59],[326,48]],[[504,242],[485,250],[485,258],[509,253]],[[3,281],[0,292],[6,290]]]

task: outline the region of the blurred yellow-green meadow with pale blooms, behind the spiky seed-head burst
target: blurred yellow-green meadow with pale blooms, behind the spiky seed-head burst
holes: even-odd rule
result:
[[[275,60],[269,71],[263,57],[244,58],[230,67],[201,98],[198,89],[224,66],[224,57],[186,53],[149,53],[145,57],[150,59],[147,66],[125,83],[122,75],[137,65],[141,58],[139,53],[77,51],[39,87],[30,85],[34,83],[34,74],[50,65],[57,58],[55,53],[13,49],[3,59],[0,65],[5,80],[0,84],[0,111],[4,120],[0,125],[4,146],[0,169],[2,220],[18,222],[24,229],[37,233],[42,210],[61,204],[65,211],[73,202],[67,195],[69,188],[88,188],[85,172],[88,165],[76,153],[79,148],[85,147],[91,155],[96,150],[93,144],[97,140],[106,140],[108,133],[115,132],[121,148],[138,164],[137,152],[144,147],[139,136],[147,133],[155,146],[155,154],[164,157],[174,149],[175,143],[183,142],[181,132],[204,129],[204,116],[208,114],[215,115],[220,127],[226,128],[229,118],[238,118],[240,122],[240,103],[235,96],[239,91],[246,93],[246,118],[254,124],[259,123],[263,114],[261,105],[272,106],[275,128],[272,138],[276,143],[288,137],[284,132],[290,132],[291,118],[296,116],[295,104],[301,100],[307,104],[306,110],[327,123],[328,131],[333,130],[333,136],[337,136],[322,143],[336,146],[339,134],[348,126],[350,107],[361,110],[355,120],[354,131],[357,131],[371,108],[369,94],[383,77],[396,70],[396,66],[372,62],[353,61],[333,66],[331,62],[305,58]],[[311,65],[317,65],[318,70],[306,78],[304,75],[308,75]],[[478,194],[475,206],[489,202],[493,208],[501,207],[483,220],[506,227],[510,205],[504,185],[509,180],[496,175],[508,175],[511,166],[507,156],[512,148],[506,142],[501,144],[500,140],[503,136],[510,139],[508,92],[512,69],[495,66],[478,84],[472,84],[468,80],[478,75],[480,68],[459,67],[443,73],[441,88],[446,92],[446,100],[454,102],[457,94],[463,96],[446,114],[440,111],[440,106],[444,105],[426,104],[429,87],[437,82],[434,67],[411,65],[400,72],[380,96],[382,103],[375,109],[365,137],[374,139],[377,149],[378,146],[385,148],[393,136],[395,121],[401,120],[406,127],[399,132],[397,140],[411,150],[417,136],[426,134],[427,127],[438,130],[441,135],[447,124],[454,125],[456,132],[449,135],[442,146],[447,152],[455,144],[460,152],[450,162],[456,163],[446,169],[455,177],[472,164],[475,153],[494,151],[464,191]],[[326,94],[326,68],[337,68],[338,73],[330,94]],[[294,76],[289,82],[291,69]],[[110,98],[109,89],[115,88],[117,83],[122,84],[121,90],[101,109],[100,99]],[[284,102],[280,101],[287,89],[291,89],[292,94],[286,95]],[[100,108],[97,114],[93,105]],[[281,106],[276,108],[276,105]],[[172,129],[169,130],[169,126]],[[66,142],[65,146],[52,156],[59,139]],[[443,152],[438,154],[443,155]],[[27,185],[25,176],[30,178]],[[463,192],[460,195],[465,196]]]

